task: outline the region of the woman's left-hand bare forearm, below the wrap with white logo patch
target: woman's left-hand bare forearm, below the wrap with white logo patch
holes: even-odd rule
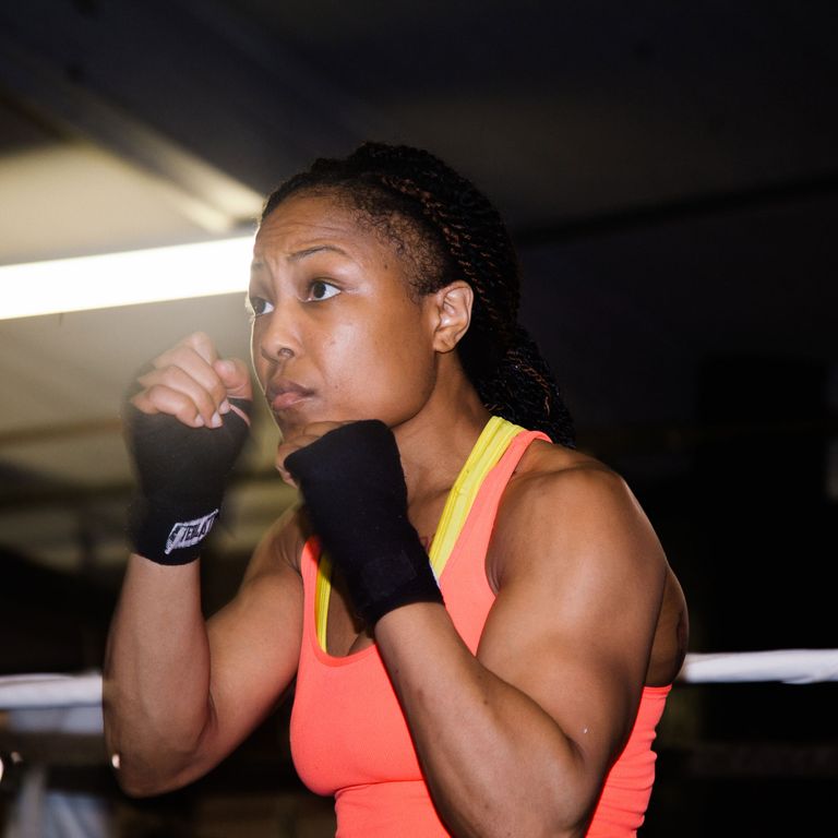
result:
[[[212,725],[210,648],[197,563],[129,560],[105,660],[105,732],[120,783],[179,785]]]

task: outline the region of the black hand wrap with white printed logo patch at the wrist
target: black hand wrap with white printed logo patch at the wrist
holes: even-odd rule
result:
[[[247,416],[250,399],[230,398]],[[122,412],[139,491],[129,508],[134,552],[158,564],[197,559],[220,513],[227,479],[248,438],[248,423],[230,410],[220,428],[190,428],[173,416]]]

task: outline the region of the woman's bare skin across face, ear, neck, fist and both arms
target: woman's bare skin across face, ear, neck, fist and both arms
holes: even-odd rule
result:
[[[345,205],[286,200],[256,237],[252,357],[283,432],[284,479],[291,451],[343,422],[381,419],[398,444],[409,518],[430,537],[488,412],[455,351],[471,289],[452,283],[417,300],[406,275]],[[157,359],[142,383],[141,410],[190,426],[212,426],[229,396],[250,394],[244,364],[219,359],[205,335]],[[196,564],[131,558],[106,666],[108,742],[128,790],[201,776],[291,682],[306,536],[300,511],[278,522],[208,624]],[[328,651],[378,644],[454,834],[584,835],[644,684],[668,684],[681,667],[683,595],[620,477],[544,442],[506,488],[486,572],[496,599],[476,656],[440,604],[360,625],[339,578]]]

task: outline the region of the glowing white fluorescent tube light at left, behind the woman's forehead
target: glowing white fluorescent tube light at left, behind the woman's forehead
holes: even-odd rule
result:
[[[253,239],[0,267],[0,320],[244,294]]]

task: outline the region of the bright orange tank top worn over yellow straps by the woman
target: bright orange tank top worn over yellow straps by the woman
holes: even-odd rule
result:
[[[547,438],[534,431],[518,433],[488,472],[440,576],[445,607],[472,654],[494,601],[484,559],[498,505],[534,439]],[[335,797],[336,838],[448,836],[422,779],[378,647],[333,657],[318,639],[319,561],[318,542],[310,539],[301,556],[303,636],[291,711],[297,773],[313,792]],[[589,838],[633,836],[643,823],[655,778],[651,742],[669,689],[644,689],[634,729],[606,780]]]

